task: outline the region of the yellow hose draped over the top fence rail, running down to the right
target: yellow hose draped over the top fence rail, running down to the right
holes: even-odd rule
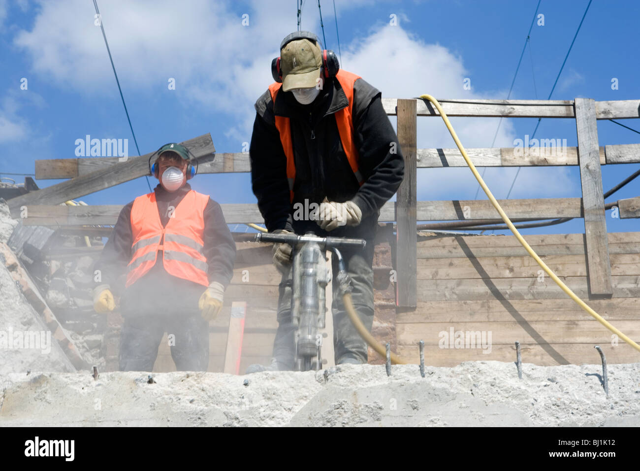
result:
[[[509,226],[509,229],[511,229],[511,232],[513,233],[513,235],[516,236],[516,238],[518,239],[518,242],[520,242],[520,244],[522,244],[522,247],[524,247],[526,249],[526,251],[529,252],[529,255],[532,256],[533,260],[538,262],[538,265],[540,265],[540,267],[542,267],[542,269],[545,270],[545,272],[547,272],[548,276],[550,276],[551,279],[553,279],[553,281],[555,281],[556,284],[558,286],[560,286],[560,288],[562,288],[562,290],[565,293],[567,293],[571,299],[573,299],[573,301],[577,302],[577,304],[580,306],[580,308],[582,308],[585,311],[587,311],[591,316],[593,316],[593,318],[595,318],[598,322],[600,322],[600,324],[602,324],[603,326],[607,327],[607,329],[612,331],[614,334],[616,334],[618,337],[620,337],[622,340],[624,340],[629,345],[634,347],[634,349],[636,349],[637,351],[640,352],[640,345],[638,345],[636,342],[634,342],[633,340],[628,338],[626,335],[621,333],[621,331],[616,329],[616,327],[614,327],[611,324],[609,324],[609,322],[607,322],[598,313],[596,313],[596,311],[591,309],[587,305],[586,302],[582,301],[582,299],[577,297],[577,295],[575,295],[575,293],[572,290],[570,290],[570,288],[568,286],[566,286],[563,283],[563,281],[561,279],[559,279],[556,276],[556,274],[554,272],[552,272],[552,270],[549,267],[547,267],[547,264],[540,259],[538,254],[536,254],[536,252],[534,252],[534,250],[529,246],[529,244],[527,244],[527,241],[524,240],[522,235],[520,235],[520,233],[518,232],[518,229],[516,229],[515,226],[513,226],[513,223],[511,223],[511,220],[507,217],[506,213],[504,213],[504,211],[500,207],[500,204],[496,201],[495,197],[493,197],[493,195],[491,193],[491,190],[489,190],[488,186],[486,186],[486,183],[484,183],[484,180],[482,179],[482,177],[480,176],[480,174],[476,170],[476,167],[474,166],[472,161],[467,156],[467,151],[465,151],[465,148],[460,143],[460,139],[458,139],[458,135],[456,135],[456,131],[453,130],[453,128],[451,126],[451,122],[449,122],[449,118],[447,118],[447,115],[442,110],[442,106],[440,106],[440,103],[438,103],[438,100],[436,100],[431,95],[420,95],[420,98],[429,100],[438,109],[438,113],[440,113],[440,116],[444,120],[444,123],[447,125],[447,129],[449,129],[449,133],[451,133],[451,137],[456,142],[456,145],[458,146],[458,149],[460,149],[460,153],[465,158],[465,161],[467,162],[467,165],[469,166],[469,168],[473,172],[473,174],[476,177],[478,183],[480,184],[480,186],[482,186],[482,189],[484,190],[484,193],[486,193],[486,195],[489,197],[489,201],[491,201],[491,204],[493,204],[493,208],[495,208],[495,210],[498,211],[498,213],[500,214],[500,217],[502,218],[502,220],[504,220],[504,222],[507,224],[507,226]]]

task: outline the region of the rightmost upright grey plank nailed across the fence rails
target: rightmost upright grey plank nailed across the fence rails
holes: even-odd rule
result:
[[[607,221],[598,152],[595,100],[575,99],[575,124],[578,133],[589,288],[593,295],[609,296],[612,294],[611,263],[607,244]]]

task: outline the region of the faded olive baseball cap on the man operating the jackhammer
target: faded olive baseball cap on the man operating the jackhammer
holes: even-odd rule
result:
[[[322,53],[316,42],[307,38],[285,44],[280,51],[282,91],[316,87],[322,67]]]

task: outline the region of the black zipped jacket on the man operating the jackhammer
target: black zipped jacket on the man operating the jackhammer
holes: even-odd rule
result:
[[[342,149],[333,113],[348,106],[337,79],[325,84],[316,100],[299,104],[291,92],[278,92],[273,103],[267,90],[255,103],[257,115],[249,149],[253,193],[269,231],[289,229],[296,233],[372,238],[381,206],[390,199],[404,177],[404,160],[397,136],[383,109],[380,92],[357,79],[353,87],[353,128],[359,168],[365,183],[358,185]],[[289,200],[286,156],[275,115],[290,118],[296,163],[294,201]],[[395,143],[395,144],[394,144]],[[362,210],[359,226],[323,231],[313,220],[294,220],[294,204],[344,202],[349,199]]]

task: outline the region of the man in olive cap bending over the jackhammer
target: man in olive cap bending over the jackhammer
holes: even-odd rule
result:
[[[333,51],[321,49],[313,33],[285,37],[271,69],[275,83],[255,103],[249,150],[260,213],[269,232],[367,240],[364,250],[342,252],[353,281],[353,304],[371,330],[379,210],[404,176],[396,133],[380,92],[341,70]],[[306,210],[314,205],[317,211]],[[291,246],[274,245],[273,261],[282,272],[273,359],[268,367],[251,365],[247,372],[293,367]],[[367,345],[337,298],[334,291],[335,363],[366,363]]]

